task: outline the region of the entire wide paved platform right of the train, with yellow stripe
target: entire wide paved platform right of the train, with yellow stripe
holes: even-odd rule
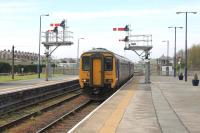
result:
[[[199,133],[200,86],[178,77],[135,77],[91,112],[73,133]]]

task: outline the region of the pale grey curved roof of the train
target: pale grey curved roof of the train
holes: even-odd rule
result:
[[[128,61],[132,62],[132,61],[129,60],[128,58],[123,57],[123,56],[118,55],[118,54],[115,54],[115,53],[113,53],[112,51],[109,51],[109,50],[107,50],[107,49],[105,49],[105,48],[93,48],[92,50],[89,50],[89,51],[87,51],[87,52],[84,52],[83,54],[85,54],[85,53],[93,53],[93,52],[111,53],[111,54],[113,54],[115,57],[117,57],[118,59],[128,60]],[[82,54],[82,55],[83,55],[83,54]]]

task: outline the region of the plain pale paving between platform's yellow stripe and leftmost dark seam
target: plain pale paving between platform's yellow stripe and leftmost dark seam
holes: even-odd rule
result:
[[[117,133],[160,133],[161,129],[152,102],[151,88],[141,80],[119,123]]]

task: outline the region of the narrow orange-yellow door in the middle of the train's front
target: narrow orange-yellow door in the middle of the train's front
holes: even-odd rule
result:
[[[93,85],[101,86],[102,85],[102,60],[101,58],[93,58],[92,63],[92,77],[93,77]]]

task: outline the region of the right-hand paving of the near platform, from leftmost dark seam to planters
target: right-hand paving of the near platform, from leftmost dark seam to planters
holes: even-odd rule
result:
[[[200,132],[200,86],[192,86],[191,80],[159,76],[152,77],[151,88],[163,132]]]

